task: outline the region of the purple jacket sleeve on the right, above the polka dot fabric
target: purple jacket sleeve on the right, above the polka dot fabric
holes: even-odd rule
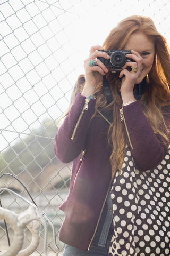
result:
[[[164,137],[154,134],[154,130],[142,111],[139,100],[123,107],[123,127],[134,161],[140,170],[146,171],[158,166],[164,159],[167,142]],[[169,113],[166,112],[165,122],[169,126]],[[165,132],[165,127],[162,131]],[[169,134],[166,134],[169,135]]]

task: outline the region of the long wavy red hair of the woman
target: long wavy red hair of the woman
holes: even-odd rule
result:
[[[154,63],[147,75],[146,90],[140,100],[143,113],[145,113],[154,133],[162,135],[166,139],[167,143],[169,143],[169,137],[166,135],[169,134],[169,127],[167,127],[164,121],[162,110],[163,107],[169,105],[170,101],[170,57],[166,39],[158,33],[154,22],[149,17],[133,15],[120,21],[118,25],[111,30],[104,41],[103,47],[107,50],[124,49],[129,36],[132,33],[135,33],[135,31],[141,31],[144,33],[155,45]],[[79,76],[78,81],[74,86],[70,106],[66,111],[65,116],[69,113],[77,93],[81,93],[83,90],[84,83],[80,82],[82,81],[81,77],[84,77],[84,75]],[[122,106],[122,99],[118,95],[116,89],[118,74],[107,73],[106,78],[111,85],[113,102],[107,105],[102,81],[100,81],[95,90],[97,101],[95,114],[92,118],[95,117],[98,107],[103,107],[106,111],[113,112],[114,122],[111,124],[108,131],[108,142],[112,145],[110,161],[113,176],[117,167],[119,170],[122,168],[126,141],[122,122],[120,120],[120,114],[117,111],[117,108],[121,108]],[[119,86],[121,86],[121,84],[119,84]],[[166,129],[165,133],[162,132],[163,125]]]

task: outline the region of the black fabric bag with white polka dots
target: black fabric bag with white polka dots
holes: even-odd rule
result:
[[[112,186],[113,225],[109,256],[170,255],[170,147],[156,169],[140,171],[126,146]]]

